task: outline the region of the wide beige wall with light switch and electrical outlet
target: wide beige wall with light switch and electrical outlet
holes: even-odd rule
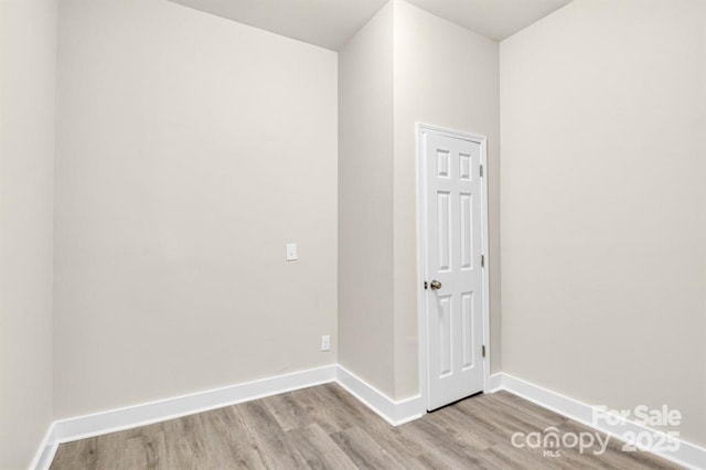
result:
[[[335,53],[167,0],[58,43],[56,418],[335,363]]]

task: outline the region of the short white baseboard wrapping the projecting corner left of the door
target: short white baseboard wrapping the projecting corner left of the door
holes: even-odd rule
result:
[[[409,423],[426,413],[420,395],[394,400],[342,365],[338,366],[336,382],[393,426]]]

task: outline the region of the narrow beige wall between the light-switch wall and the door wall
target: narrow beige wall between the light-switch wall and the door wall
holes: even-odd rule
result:
[[[393,4],[339,53],[339,362],[395,395]]]

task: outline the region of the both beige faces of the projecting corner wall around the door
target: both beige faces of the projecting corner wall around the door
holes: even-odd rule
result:
[[[500,366],[498,43],[404,1],[340,52],[340,362],[393,398],[419,393],[417,121],[489,137],[493,344]]]

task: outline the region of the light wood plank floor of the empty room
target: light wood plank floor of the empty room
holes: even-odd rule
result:
[[[644,452],[541,449],[516,431],[595,432],[509,393],[479,395],[392,427],[335,384],[60,446],[62,469],[638,469],[675,468]],[[597,448],[596,448],[597,449]]]

